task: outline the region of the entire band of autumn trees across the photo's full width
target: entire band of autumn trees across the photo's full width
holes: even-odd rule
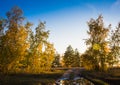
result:
[[[22,9],[13,7],[0,17],[0,73],[41,73],[53,68],[84,67],[87,70],[107,71],[120,66],[120,23],[111,29],[104,26],[103,16],[88,22],[87,49],[81,54],[71,45],[64,55],[56,52],[48,41],[50,31],[46,22],[25,22]],[[35,29],[35,30],[33,30]]]

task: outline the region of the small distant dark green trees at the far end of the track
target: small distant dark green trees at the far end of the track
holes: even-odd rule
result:
[[[80,53],[71,45],[66,48],[63,55],[57,53],[54,58],[53,67],[80,67]]]

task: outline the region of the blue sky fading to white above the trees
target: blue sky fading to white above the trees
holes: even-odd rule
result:
[[[39,21],[46,21],[48,40],[60,54],[68,45],[80,53],[87,49],[84,39],[88,38],[87,22],[91,18],[102,14],[105,26],[112,24],[112,29],[120,22],[120,0],[0,0],[0,16],[5,17],[14,6],[24,11],[26,21],[34,27]]]

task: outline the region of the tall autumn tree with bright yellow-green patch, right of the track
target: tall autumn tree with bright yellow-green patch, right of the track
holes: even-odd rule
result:
[[[88,22],[89,31],[87,31],[89,38],[86,40],[86,44],[89,46],[90,53],[88,54],[89,62],[94,63],[92,68],[95,70],[106,70],[107,55],[109,53],[108,32],[110,25],[104,27],[103,17],[100,15],[96,20],[91,19]],[[88,59],[87,59],[88,60]],[[90,64],[88,64],[90,65]]]

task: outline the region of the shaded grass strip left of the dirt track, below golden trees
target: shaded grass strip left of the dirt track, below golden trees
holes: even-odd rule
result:
[[[0,85],[53,85],[65,70],[40,74],[9,74],[0,76]]]

